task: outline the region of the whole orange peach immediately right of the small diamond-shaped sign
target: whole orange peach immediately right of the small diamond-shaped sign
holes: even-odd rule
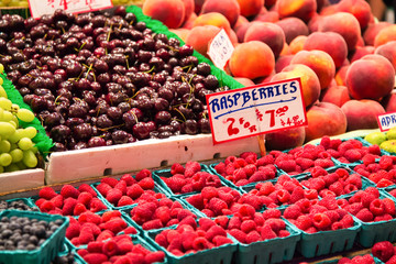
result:
[[[275,57],[267,44],[251,41],[235,47],[229,65],[234,77],[255,79],[272,74],[275,68]]]

